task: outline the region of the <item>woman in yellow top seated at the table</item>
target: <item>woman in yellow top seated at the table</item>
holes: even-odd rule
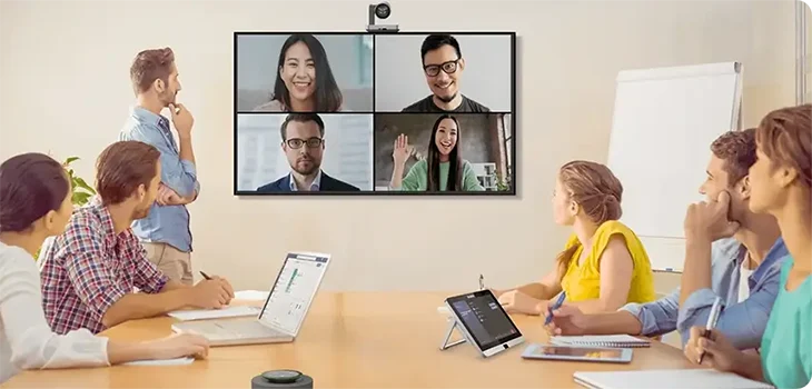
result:
[[[564,164],[555,184],[555,222],[573,235],[557,266],[541,282],[494,290],[508,312],[541,315],[562,290],[566,302],[584,312],[613,311],[656,296],[648,256],[637,236],[617,221],[623,186],[601,163]]]

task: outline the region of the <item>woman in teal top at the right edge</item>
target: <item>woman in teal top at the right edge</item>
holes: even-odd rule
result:
[[[737,350],[717,330],[691,329],[685,356],[694,363],[766,381],[778,388],[812,386],[812,106],[770,112],[755,130],[750,167],[750,210],[775,217],[790,255],[759,353]],[[726,225],[721,202],[694,207],[716,216],[704,229]],[[691,212],[691,210],[689,211]],[[687,217],[686,217],[687,220]]]

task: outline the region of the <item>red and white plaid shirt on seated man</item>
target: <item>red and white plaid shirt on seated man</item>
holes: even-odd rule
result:
[[[168,281],[130,228],[116,235],[98,197],[77,209],[47,248],[40,278],[46,318],[60,335],[79,328],[101,332],[101,318],[116,301],[135,288],[157,293]]]

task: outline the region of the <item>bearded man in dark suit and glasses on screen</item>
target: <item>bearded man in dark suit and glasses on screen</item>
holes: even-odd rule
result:
[[[257,188],[257,192],[358,191],[355,186],[327,176],[321,170],[324,121],[316,113],[290,113],[280,127],[281,149],[290,173]]]

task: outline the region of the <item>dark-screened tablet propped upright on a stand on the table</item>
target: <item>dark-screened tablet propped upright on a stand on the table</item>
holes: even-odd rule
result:
[[[447,301],[483,351],[522,336],[489,290],[450,297]]]

